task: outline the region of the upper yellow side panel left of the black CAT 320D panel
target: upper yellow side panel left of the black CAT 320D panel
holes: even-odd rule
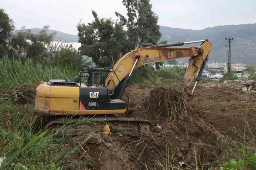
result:
[[[51,86],[50,97],[79,98],[79,87]]]

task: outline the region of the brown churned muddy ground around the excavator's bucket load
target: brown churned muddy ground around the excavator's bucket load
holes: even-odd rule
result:
[[[251,132],[246,131],[246,135],[255,134],[256,99],[255,94],[244,93],[239,86],[225,86],[223,83],[211,86],[214,83],[199,83],[194,96],[188,100],[186,114],[172,119],[164,113],[160,114],[163,111],[159,109],[156,110],[159,111],[157,117],[152,115],[152,111],[149,113],[152,92],[160,88],[162,91],[158,94],[164,95],[171,90],[169,86],[139,84],[134,93],[136,84],[129,86],[129,106],[133,110],[129,116],[151,120],[155,126],[161,126],[161,131],[156,129],[137,134],[95,132],[81,148],[84,155],[79,158],[71,156],[70,159],[90,159],[90,166],[79,166],[77,169],[168,169],[167,164],[179,168],[199,164],[199,169],[219,169],[216,160],[221,159],[224,151],[218,147],[218,133],[240,140],[237,134],[243,135],[249,102],[247,119]],[[81,134],[74,140],[80,141],[86,136]]]

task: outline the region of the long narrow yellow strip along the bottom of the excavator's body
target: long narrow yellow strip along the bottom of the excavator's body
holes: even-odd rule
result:
[[[73,111],[50,111],[50,115],[69,115],[69,114],[75,114],[75,115],[96,115],[96,114],[120,114],[125,113],[126,109],[120,109],[120,110],[73,110]]]

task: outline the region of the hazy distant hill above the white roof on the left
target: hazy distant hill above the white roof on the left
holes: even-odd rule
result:
[[[28,31],[28,30],[29,29],[23,29],[22,31]],[[42,29],[33,28],[30,30],[32,33],[38,34],[39,31],[41,31]],[[20,31],[20,30],[17,30],[17,31]],[[15,31],[14,34],[17,31]],[[77,35],[67,34],[67,33],[55,31],[55,30],[48,30],[48,33],[53,33],[53,32],[57,33],[56,36],[53,37],[53,41],[62,42],[62,43],[77,43],[78,42]]]

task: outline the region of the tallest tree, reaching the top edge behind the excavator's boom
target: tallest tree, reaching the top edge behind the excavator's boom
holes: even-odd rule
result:
[[[134,50],[142,43],[156,44],[161,37],[160,26],[157,25],[158,16],[152,11],[150,0],[123,0],[127,16],[116,12],[116,16],[127,28],[128,42],[123,54]]]

